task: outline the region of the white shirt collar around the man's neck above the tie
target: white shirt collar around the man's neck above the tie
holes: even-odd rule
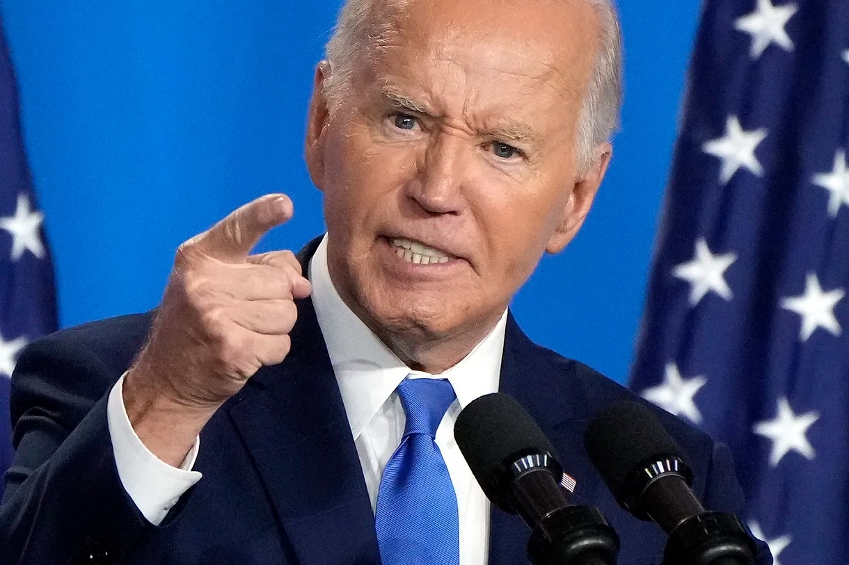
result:
[[[430,375],[406,366],[341,299],[330,280],[326,235],[312,256],[309,277],[318,327],[327,344],[354,439],[408,375],[447,378],[461,408],[479,396],[498,392],[507,310],[462,361],[440,375]]]

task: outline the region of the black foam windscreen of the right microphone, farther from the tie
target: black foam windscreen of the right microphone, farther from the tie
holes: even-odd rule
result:
[[[608,406],[590,420],[584,447],[610,492],[622,504],[630,473],[654,458],[675,456],[687,464],[680,446],[648,407],[625,400]]]

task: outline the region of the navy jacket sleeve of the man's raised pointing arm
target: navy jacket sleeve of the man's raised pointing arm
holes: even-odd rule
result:
[[[68,340],[44,338],[20,356],[0,565],[120,563],[152,528],[115,467],[106,410],[114,380],[96,355]]]

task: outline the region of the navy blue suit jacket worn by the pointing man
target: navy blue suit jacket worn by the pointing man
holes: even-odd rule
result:
[[[301,252],[302,263],[316,243]],[[121,486],[106,419],[110,388],[142,347],[152,315],[93,322],[31,344],[13,378],[17,453],[0,506],[0,563],[380,563],[363,472],[310,299],[298,301],[298,315],[286,360],[257,372],[204,428],[194,467],[204,477],[159,527]],[[576,497],[610,519],[621,537],[619,563],[661,562],[660,529],[616,505],[582,447],[588,419],[633,394],[531,343],[512,316],[501,390],[552,440],[577,478]],[[658,414],[689,454],[706,506],[739,512],[728,450]],[[528,534],[520,518],[493,509],[490,563],[526,562]],[[770,562],[766,551],[761,562]]]

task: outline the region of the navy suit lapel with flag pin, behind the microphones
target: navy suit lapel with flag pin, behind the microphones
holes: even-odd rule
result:
[[[548,354],[550,355],[550,354]],[[525,407],[558,451],[559,462],[578,485],[572,501],[594,500],[597,481],[583,449],[583,429],[588,420],[584,395],[577,386],[574,365],[563,361],[562,371],[548,361],[542,348],[531,342],[515,322],[507,321],[499,390]],[[531,531],[518,516],[492,507],[490,522],[491,565],[514,564],[527,554]]]

